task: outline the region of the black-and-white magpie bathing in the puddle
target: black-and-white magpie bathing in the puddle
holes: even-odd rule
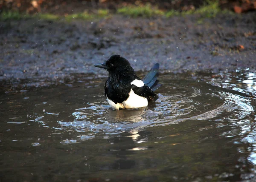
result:
[[[148,101],[154,100],[158,84],[159,64],[156,63],[150,72],[141,80],[134,72],[128,60],[120,55],[112,55],[105,63],[94,65],[108,71],[105,82],[105,96],[112,108],[142,108]]]

